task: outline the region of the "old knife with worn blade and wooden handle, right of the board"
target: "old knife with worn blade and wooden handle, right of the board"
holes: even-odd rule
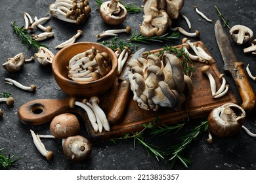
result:
[[[255,93],[244,73],[244,63],[236,59],[220,20],[217,20],[215,23],[215,37],[219,50],[221,51],[221,56],[223,57],[224,70],[231,73],[238,87],[238,92],[242,99],[241,107],[246,111],[255,109]]]

